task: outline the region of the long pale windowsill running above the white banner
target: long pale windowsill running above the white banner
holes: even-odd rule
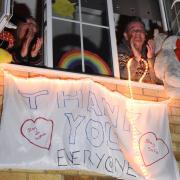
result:
[[[7,70],[7,71],[15,70],[15,71],[35,73],[35,74],[44,75],[44,76],[51,76],[51,77],[54,76],[56,78],[58,77],[59,78],[73,78],[73,79],[89,78],[96,82],[129,86],[128,80],[121,80],[121,79],[117,79],[113,77],[80,74],[80,73],[66,72],[66,71],[46,69],[46,68],[40,68],[40,67],[16,65],[16,64],[0,64],[0,67],[2,67],[4,70]],[[139,83],[135,81],[131,81],[131,86],[138,87],[138,88],[146,88],[146,89],[164,90],[163,85]]]

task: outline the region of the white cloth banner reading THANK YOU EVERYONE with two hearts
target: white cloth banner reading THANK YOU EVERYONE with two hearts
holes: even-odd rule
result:
[[[0,169],[180,179],[166,103],[131,100],[91,80],[7,73],[3,103]]]

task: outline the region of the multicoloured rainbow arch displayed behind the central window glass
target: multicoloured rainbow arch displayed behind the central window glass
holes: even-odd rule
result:
[[[85,69],[90,68],[92,73],[111,76],[112,72],[106,62],[97,54],[84,50]],[[81,67],[82,58],[80,50],[66,52],[58,63],[58,68],[74,70]]]

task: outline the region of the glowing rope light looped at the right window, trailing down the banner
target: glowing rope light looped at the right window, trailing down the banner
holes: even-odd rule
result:
[[[130,91],[130,97],[131,99],[128,101],[128,107],[129,108],[129,112],[130,112],[130,117],[128,118],[130,120],[130,124],[131,124],[131,131],[132,131],[132,145],[133,145],[133,150],[134,150],[134,154],[135,154],[135,163],[138,164],[143,176],[145,177],[145,179],[150,179],[150,175],[148,173],[148,171],[146,170],[143,160],[141,158],[141,154],[140,154],[140,150],[139,150],[139,132],[136,128],[136,117],[133,116],[134,115],[134,109],[135,109],[135,104],[133,101],[133,92],[132,92],[132,85],[131,85],[131,72],[130,72],[130,67],[131,67],[131,63],[133,61],[133,58],[130,58],[128,63],[127,63],[127,69],[128,69],[128,87],[129,87],[129,91]],[[144,77],[146,76],[147,72],[148,72],[148,63],[141,58],[141,61],[145,64],[145,71],[143,73],[143,75],[141,76],[141,78],[139,79],[139,82],[142,82]],[[152,178],[151,178],[152,180]]]

